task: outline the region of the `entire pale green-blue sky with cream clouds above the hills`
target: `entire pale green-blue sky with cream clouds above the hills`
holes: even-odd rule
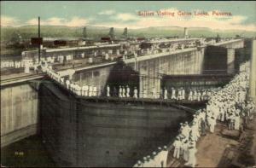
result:
[[[175,16],[139,16],[138,11],[167,11]],[[192,16],[178,16],[178,11]],[[209,13],[195,16],[194,11]],[[231,16],[215,16],[212,11],[230,12]],[[208,27],[256,31],[255,1],[168,2],[168,1],[2,1],[1,26],[113,26],[143,28],[148,26]]]

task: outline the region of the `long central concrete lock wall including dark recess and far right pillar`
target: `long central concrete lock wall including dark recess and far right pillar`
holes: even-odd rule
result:
[[[200,75],[235,73],[235,49],[243,40],[216,43],[213,46],[162,52],[125,60],[140,74],[140,94],[155,88],[160,93],[162,75]],[[171,91],[171,90],[170,90]],[[147,93],[150,97],[150,93]]]

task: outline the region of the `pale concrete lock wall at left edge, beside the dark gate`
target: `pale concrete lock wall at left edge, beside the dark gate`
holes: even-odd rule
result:
[[[29,84],[1,88],[1,148],[36,134],[38,92]]]

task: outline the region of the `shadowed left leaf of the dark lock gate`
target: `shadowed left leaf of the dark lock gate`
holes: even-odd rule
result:
[[[40,135],[57,166],[77,165],[77,117],[73,96],[52,84],[39,87]]]

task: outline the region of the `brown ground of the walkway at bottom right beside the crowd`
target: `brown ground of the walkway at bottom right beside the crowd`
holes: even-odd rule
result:
[[[225,133],[230,136],[224,135]],[[246,167],[248,158],[253,156],[256,163],[256,117],[247,125],[244,138],[238,141],[238,130],[227,130],[218,123],[214,133],[207,132],[197,142],[196,167]],[[183,167],[183,159],[172,157],[173,149],[167,157],[167,167]]]

